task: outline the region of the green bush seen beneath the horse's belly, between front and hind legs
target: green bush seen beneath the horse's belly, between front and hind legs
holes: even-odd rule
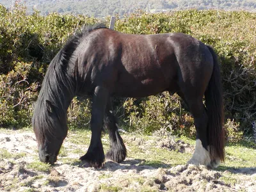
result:
[[[127,116],[125,121],[129,122],[132,131],[151,133],[165,129],[173,134],[194,137],[193,118],[181,102],[177,94],[170,96],[168,92],[146,99],[127,99],[123,105]]]

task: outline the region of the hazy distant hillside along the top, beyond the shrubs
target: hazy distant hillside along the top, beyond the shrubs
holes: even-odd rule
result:
[[[15,1],[0,0],[0,4],[10,8]],[[255,0],[20,0],[26,4],[28,13],[33,9],[39,10],[42,15],[51,12],[61,14],[83,14],[93,17],[106,17],[108,15],[124,15],[134,12],[136,9],[150,10],[150,12],[168,12],[170,10],[185,10],[196,8],[204,9],[221,9],[221,10],[246,10],[256,11]]]

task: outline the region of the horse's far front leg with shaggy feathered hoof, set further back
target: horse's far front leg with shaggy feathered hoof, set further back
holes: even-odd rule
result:
[[[116,125],[115,116],[113,114],[113,108],[111,106],[110,99],[108,100],[105,118],[104,118],[104,126],[108,130],[110,148],[106,154],[107,159],[111,159],[117,163],[124,161],[127,151],[124,145],[124,141],[122,140],[118,127]]]

